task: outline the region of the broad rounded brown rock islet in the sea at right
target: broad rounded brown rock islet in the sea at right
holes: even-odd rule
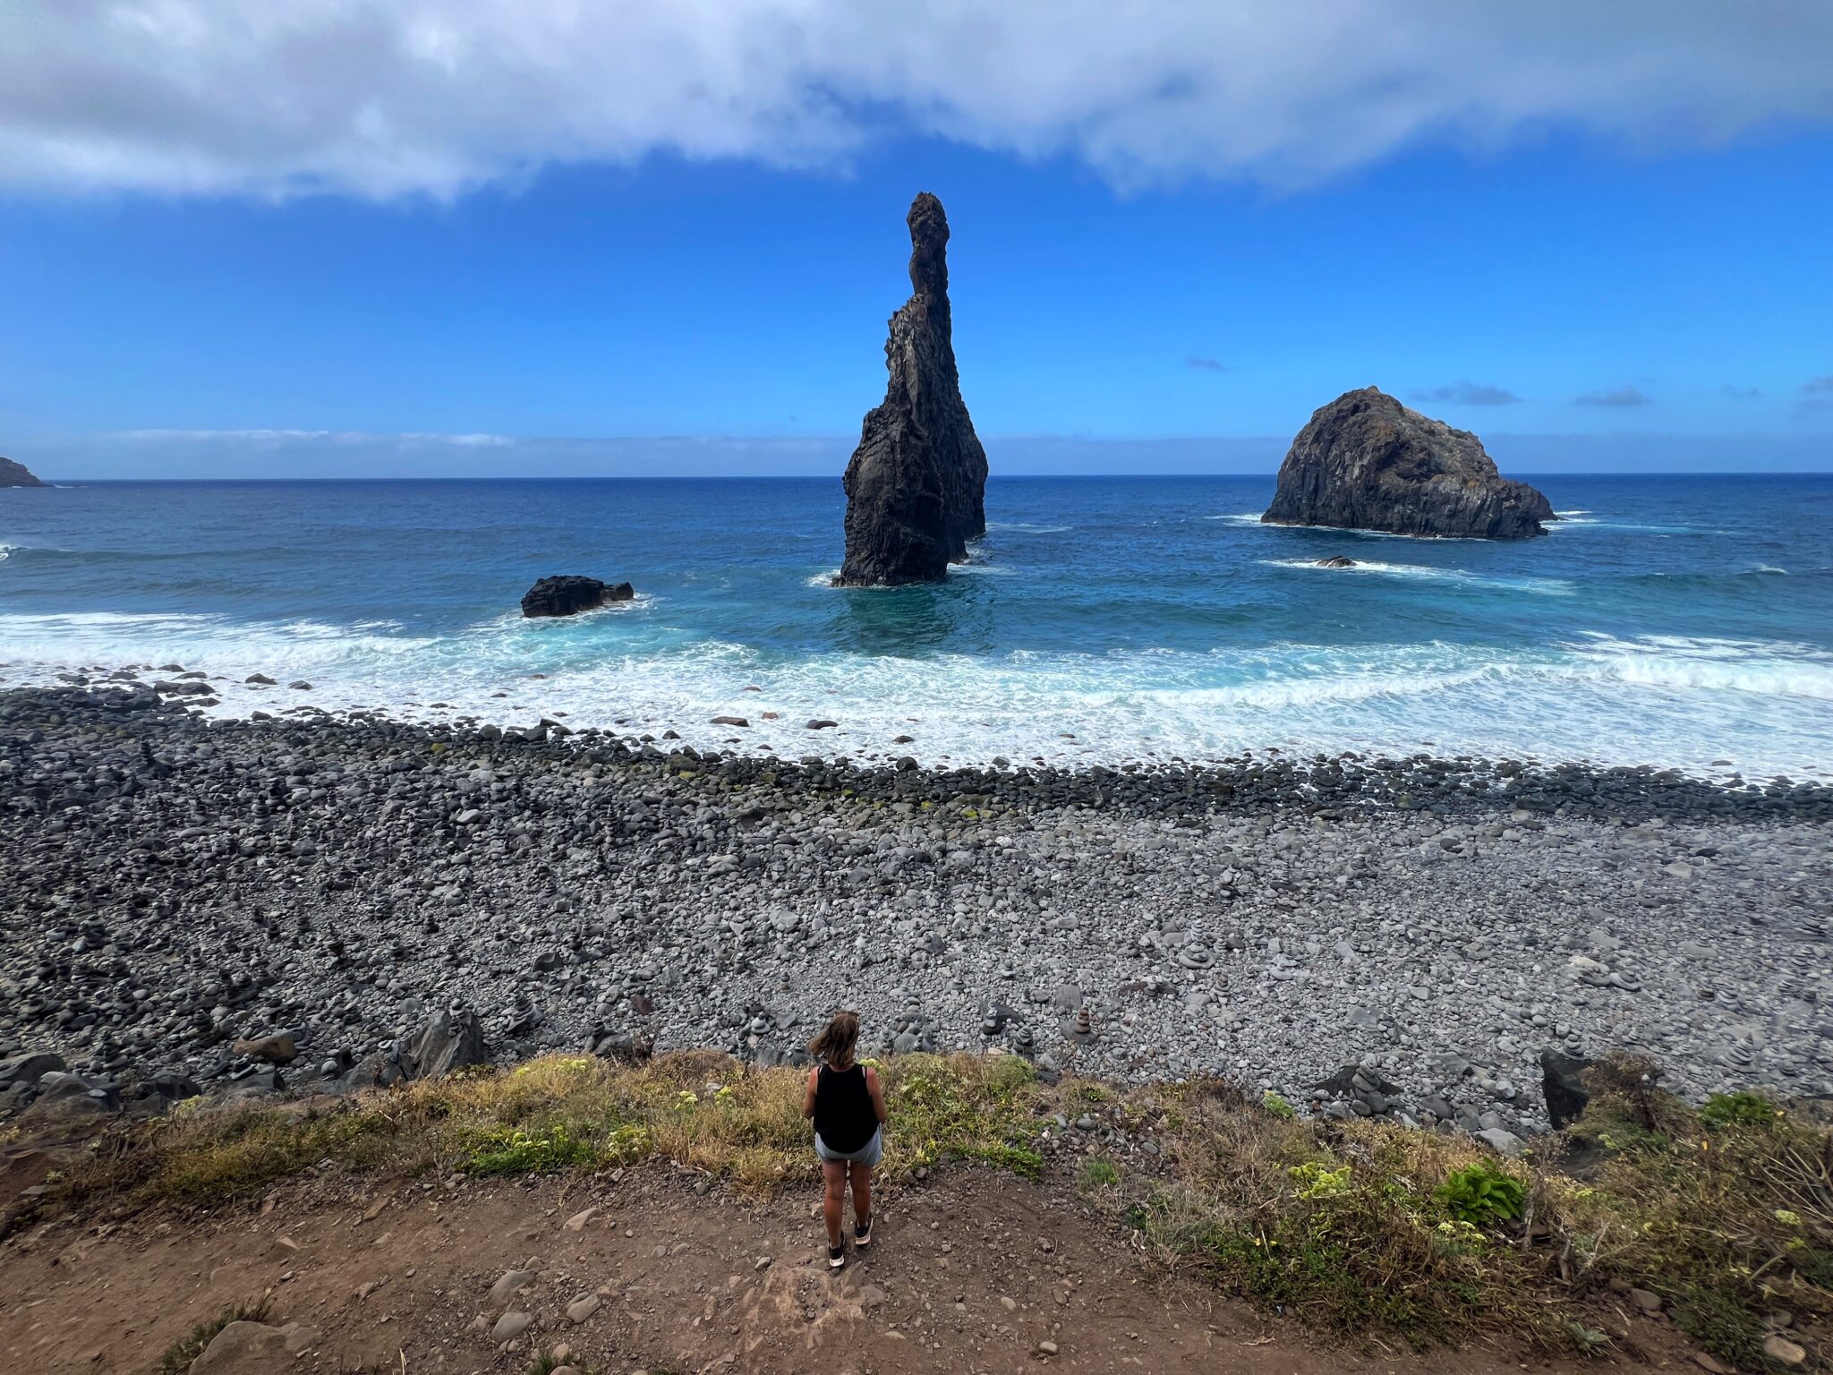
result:
[[[1410,411],[1377,387],[1312,412],[1279,464],[1267,524],[1322,524],[1439,539],[1527,539],[1558,519],[1509,482],[1465,429]]]

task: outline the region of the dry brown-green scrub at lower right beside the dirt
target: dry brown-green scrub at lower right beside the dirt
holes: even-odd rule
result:
[[[1765,1370],[1778,1311],[1809,1340],[1833,1320],[1833,1137],[1758,1094],[1696,1111],[1646,1062],[1606,1065],[1571,1137],[1608,1150],[1578,1179],[1461,1135],[1285,1118],[1219,1084],[1153,1093],[1177,1164],[1127,1175],[1114,1210],[1164,1265],[1314,1326],[1597,1351],[1622,1335],[1611,1285],[1635,1285],[1723,1362]]]

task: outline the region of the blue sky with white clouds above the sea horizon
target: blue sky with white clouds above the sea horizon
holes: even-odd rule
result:
[[[1833,469],[1829,70],[1809,0],[15,0],[0,453],[838,473],[927,189],[995,473],[1270,471],[1371,383]]]

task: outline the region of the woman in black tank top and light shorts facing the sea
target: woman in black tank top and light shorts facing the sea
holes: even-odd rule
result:
[[[834,1270],[847,1263],[840,1219],[847,1206],[849,1179],[852,1239],[862,1250],[873,1245],[873,1166],[885,1153],[885,1091],[876,1069],[854,1062],[858,1043],[858,1012],[836,1012],[821,1034],[808,1041],[816,1067],[808,1071],[803,1116],[814,1120],[814,1153],[821,1160],[827,1186],[821,1201],[827,1263]]]

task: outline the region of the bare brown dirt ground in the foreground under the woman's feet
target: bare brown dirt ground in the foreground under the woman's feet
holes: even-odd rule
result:
[[[150,1371],[192,1324],[262,1294],[269,1322],[319,1329],[291,1362],[301,1371],[526,1371],[555,1348],[618,1375],[1567,1368],[1509,1353],[1331,1349],[1197,1285],[1147,1283],[1074,1199],[977,1170],[887,1201],[873,1250],[840,1274],[827,1270],[805,1195],[697,1197],[653,1172],[346,1190],[301,1182],[220,1217],[49,1226],[9,1241],[0,1371]],[[491,1285],[517,1269],[533,1280],[493,1304]],[[508,1344],[491,1338],[504,1309],[533,1314]],[[1641,1324],[1637,1344],[1657,1368],[1696,1370],[1664,1327]]]

